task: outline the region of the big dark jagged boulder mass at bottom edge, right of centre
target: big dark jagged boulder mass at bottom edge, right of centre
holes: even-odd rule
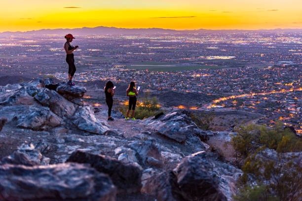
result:
[[[241,173],[202,151],[184,158],[171,172],[151,176],[142,192],[155,193],[159,201],[231,201]]]

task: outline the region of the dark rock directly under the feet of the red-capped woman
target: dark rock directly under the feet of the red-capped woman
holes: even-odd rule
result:
[[[83,105],[83,101],[81,99],[83,98],[87,90],[85,87],[71,86],[66,82],[61,82],[58,83],[56,91],[65,99],[78,105]]]

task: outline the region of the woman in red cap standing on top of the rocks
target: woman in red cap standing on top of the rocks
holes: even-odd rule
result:
[[[75,85],[75,83],[73,83],[73,77],[74,74],[76,72],[76,66],[75,66],[75,58],[74,58],[74,50],[76,50],[76,48],[78,48],[78,46],[76,45],[75,47],[72,46],[70,43],[73,41],[73,39],[75,38],[71,33],[65,35],[66,38],[66,43],[64,44],[64,49],[66,52],[66,62],[68,64],[68,78],[69,81],[67,82],[67,84],[70,85]]]

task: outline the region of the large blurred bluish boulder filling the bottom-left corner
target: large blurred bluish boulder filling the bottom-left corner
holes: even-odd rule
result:
[[[81,164],[0,166],[1,201],[115,201],[106,174]]]

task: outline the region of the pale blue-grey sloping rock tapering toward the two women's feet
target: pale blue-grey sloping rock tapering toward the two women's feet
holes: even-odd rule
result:
[[[94,134],[115,133],[110,130],[109,125],[104,120],[97,120],[91,106],[79,106],[73,117],[73,123],[79,130]]]

